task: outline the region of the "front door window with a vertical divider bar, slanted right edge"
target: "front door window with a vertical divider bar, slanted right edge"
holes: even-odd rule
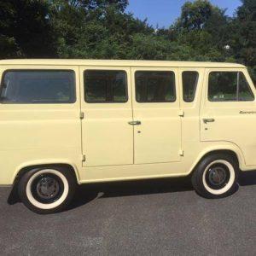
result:
[[[241,72],[212,72],[208,81],[210,102],[253,101],[253,92]]]

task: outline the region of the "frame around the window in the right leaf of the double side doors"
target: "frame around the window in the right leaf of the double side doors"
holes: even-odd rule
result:
[[[174,92],[174,96],[175,96],[175,99],[174,99],[174,101],[171,101],[171,102],[160,102],[160,101],[157,101],[157,102],[139,102],[138,101],[138,99],[137,99],[137,79],[136,79],[136,74],[138,73],[138,72],[143,72],[143,73],[172,73],[173,74],[173,82],[174,82],[174,84],[173,84],[173,92]],[[174,102],[177,102],[177,90],[176,90],[176,73],[174,72],[174,71],[172,71],[172,70],[157,70],[157,69],[150,69],[150,70],[144,70],[144,69],[142,69],[142,70],[140,70],[140,69],[137,69],[135,72],[134,72],[134,90],[135,90],[135,100],[136,100],[136,102],[137,103],[139,103],[139,104],[141,104],[141,103],[147,103],[147,104],[152,104],[152,103],[164,103],[164,104],[166,104],[166,103],[174,103]]]

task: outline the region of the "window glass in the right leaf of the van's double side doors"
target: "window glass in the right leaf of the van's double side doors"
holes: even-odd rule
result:
[[[175,74],[166,71],[135,73],[137,102],[175,102]]]

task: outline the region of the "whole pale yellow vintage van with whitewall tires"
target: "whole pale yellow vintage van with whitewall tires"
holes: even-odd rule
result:
[[[0,184],[34,212],[77,184],[181,177],[230,195],[256,169],[256,91],[239,64],[0,61]]]

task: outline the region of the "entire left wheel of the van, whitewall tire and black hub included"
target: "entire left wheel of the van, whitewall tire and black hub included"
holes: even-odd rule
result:
[[[58,167],[36,168],[26,172],[18,185],[20,200],[33,212],[60,212],[73,198],[76,179],[72,172]]]

